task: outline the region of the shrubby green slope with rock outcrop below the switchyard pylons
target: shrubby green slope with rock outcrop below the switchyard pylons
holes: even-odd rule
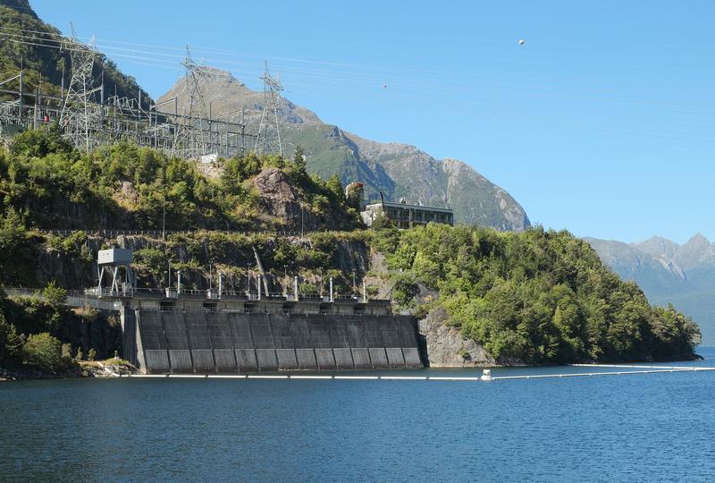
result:
[[[151,148],[80,153],[56,125],[0,149],[0,197],[5,218],[40,228],[296,231],[360,223],[337,177],[311,178],[302,158],[249,154],[207,179],[196,162]]]

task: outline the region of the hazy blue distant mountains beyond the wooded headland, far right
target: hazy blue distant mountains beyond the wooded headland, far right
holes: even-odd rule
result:
[[[704,344],[715,343],[715,243],[700,233],[683,245],[660,236],[630,244],[585,240],[603,263],[635,281],[652,303],[672,303],[700,325]]]

